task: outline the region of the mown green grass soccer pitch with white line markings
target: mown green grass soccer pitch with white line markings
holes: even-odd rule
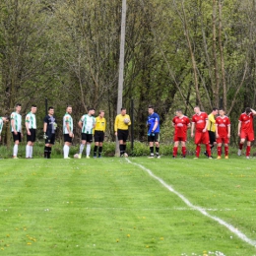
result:
[[[0,161],[1,255],[256,255],[256,160]]]

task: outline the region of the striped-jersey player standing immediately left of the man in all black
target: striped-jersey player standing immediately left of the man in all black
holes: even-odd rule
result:
[[[31,112],[26,115],[25,126],[27,130],[27,146],[26,146],[26,159],[32,159],[32,146],[35,142],[36,134],[36,105],[32,105]]]

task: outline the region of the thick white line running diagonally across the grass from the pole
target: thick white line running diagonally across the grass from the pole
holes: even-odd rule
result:
[[[215,216],[211,216],[209,215],[205,209],[198,207],[198,206],[194,206],[188,199],[186,199],[183,195],[181,195],[179,192],[177,192],[176,190],[174,190],[170,185],[166,184],[160,177],[156,176],[150,169],[146,168],[145,166],[143,166],[142,164],[139,163],[135,163],[132,162],[131,160],[125,159],[127,160],[129,163],[132,163],[134,165],[139,166],[140,168],[142,168],[143,170],[147,171],[153,178],[157,179],[160,184],[167,188],[170,192],[172,192],[173,194],[177,195],[188,207],[197,210],[198,212],[200,212],[202,215],[209,217],[210,219],[216,221],[219,224],[224,225],[227,229],[229,229],[231,232],[233,232],[234,234],[236,234],[240,239],[242,239],[243,241],[247,242],[248,244],[252,245],[252,246],[256,246],[256,241],[248,238],[244,233],[242,233],[241,231],[239,231],[237,228],[235,228],[233,225],[231,224],[227,224],[225,223],[222,219],[215,217]]]

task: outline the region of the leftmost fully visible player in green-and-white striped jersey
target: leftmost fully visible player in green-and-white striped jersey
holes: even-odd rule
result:
[[[23,138],[21,110],[22,104],[17,103],[15,105],[15,112],[11,114],[11,132],[14,138],[13,159],[18,159],[18,146]]]

